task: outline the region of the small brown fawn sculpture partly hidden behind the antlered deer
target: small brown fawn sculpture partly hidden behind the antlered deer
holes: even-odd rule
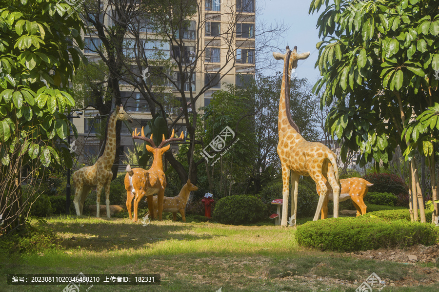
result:
[[[180,193],[175,197],[164,197],[163,200],[163,212],[171,212],[173,215],[173,220],[177,221],[177,212],[181,214],[181,220],[186,222],[186,217],[184,213],[184,209],[186,209],[187,200],[189,199],[189,194],[192,190],[197,190],[198,187],[191,184],[191,180],[188,179],[187,183],[181,188]],[[154,211],[156,212],[155,216],[157,216],[159,210],[157,208],[157,197],[154,196]],[[150,212],[148,212],[149,214]]]

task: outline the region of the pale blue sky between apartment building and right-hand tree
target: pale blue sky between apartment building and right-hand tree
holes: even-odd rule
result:
[[[259,20],[273,24],[276,21],[283,21],[290,26],[286,31],[284,42],[280,42],[282,53],[285,52],[286,45],[291,49],[297,45],[299,53],[308,51],[311,53],[308,59],[299,61],[296,73],[298,78],[306,78],[309,83],[314,84],[320,76],[319,69],[314,69],[319,56],[319,51],[316,49],[316,43],[320,41],[319,31],[316,28],[319,13],[308,15],[310,3],[311,0],[256,0]],[[282,65],[283,63],[278,61],[277,71],[282,70]]]

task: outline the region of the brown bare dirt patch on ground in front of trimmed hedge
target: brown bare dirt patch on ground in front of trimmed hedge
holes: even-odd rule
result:
[[[375,259],[399,263],[437,263],[439,261],[439,243],[429,247],[421,244],[406,249],[379,249],[357,252],[346,252],[346,255],[363,259]]]

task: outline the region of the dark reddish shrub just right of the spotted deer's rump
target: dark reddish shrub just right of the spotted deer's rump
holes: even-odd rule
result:
[[[407,193],[407,188],[404,181],[395,174],[389,173],[372,173],[364,176],[364,179],[371,184],[369,192],[392,193],[398,195],[399,193]]]

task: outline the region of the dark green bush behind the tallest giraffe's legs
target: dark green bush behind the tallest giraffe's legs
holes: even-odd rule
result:
[[[276,212],[276,206],[272,206],[271,201],[275,199],[282,199],[282,182],[273,182],[268,184],[259,193],[262,202],[267,204],[273,212]],[[314,216],[316,213],[317,204],[319,202],[319,195],[316,191],[316,183],[309,177],[301,178],[299,180],[299,193],[297,199],[297,217]],[[288,199],[288,212],[291,210],[291,185],[290,196]]]

